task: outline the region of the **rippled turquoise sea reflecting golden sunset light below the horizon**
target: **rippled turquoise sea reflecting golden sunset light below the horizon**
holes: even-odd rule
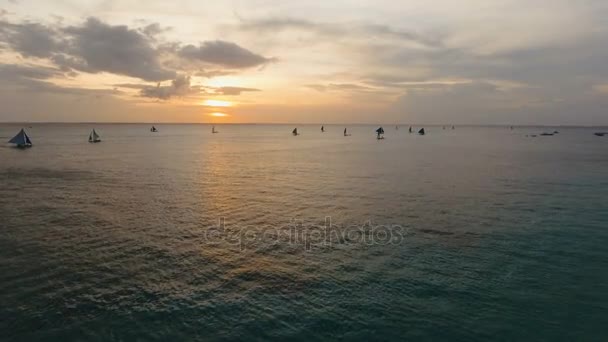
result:
[[[593,129],[156,127],[34,124],[33,148],[0,147],[1,339],[608,335]]]

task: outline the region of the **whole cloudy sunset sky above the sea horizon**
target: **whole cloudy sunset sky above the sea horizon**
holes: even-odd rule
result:
[[[0,0],[0,122],[608,125],[605,0]]]

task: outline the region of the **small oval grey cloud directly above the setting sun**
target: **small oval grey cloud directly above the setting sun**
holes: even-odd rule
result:
[[[188,60],[235,69],[262,66],[275,61],[274,58],[266,58],[235,43],[222,40],[203,42],[198,47],[186,45],[179,50],[178,54]]]

